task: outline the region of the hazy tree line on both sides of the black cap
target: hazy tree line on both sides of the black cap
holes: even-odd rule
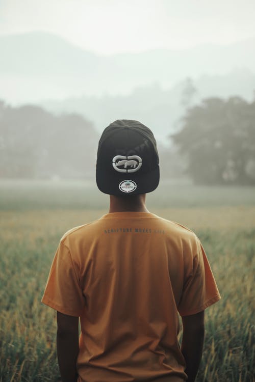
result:
[[[141,121],[142,122],[142,121]],[[0,102],[1,178],[92,178],[99,134],[78,114]],[[207,98],[188,108],[160,147],[163,178],[200,184],[255,184],[255,101]]]

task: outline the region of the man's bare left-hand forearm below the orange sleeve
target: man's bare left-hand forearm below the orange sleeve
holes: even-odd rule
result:
[[[57,351],[62,382],[76,382],[79,352],[79,317],[57,312]]]

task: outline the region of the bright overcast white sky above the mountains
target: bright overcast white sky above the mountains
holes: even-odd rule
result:
[[[0,0],[0,34],[45,31],[110,54],[255,36],[254,0]]]

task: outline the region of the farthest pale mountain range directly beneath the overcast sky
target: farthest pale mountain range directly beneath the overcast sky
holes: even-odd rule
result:
[[[73,96],[127,95],[186,77],[228,75],[255,67],[255,38],[184,50],[154,49],[103,56],[43,32],[0,36],[0,97],[11,102]]]

